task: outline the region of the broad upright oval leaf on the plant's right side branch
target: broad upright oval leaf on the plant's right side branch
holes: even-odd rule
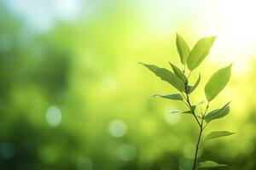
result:
[[[205,87],[205,94],[208,101],[214,99],[230,81],[231,67],[229,65],[215,72]]]

